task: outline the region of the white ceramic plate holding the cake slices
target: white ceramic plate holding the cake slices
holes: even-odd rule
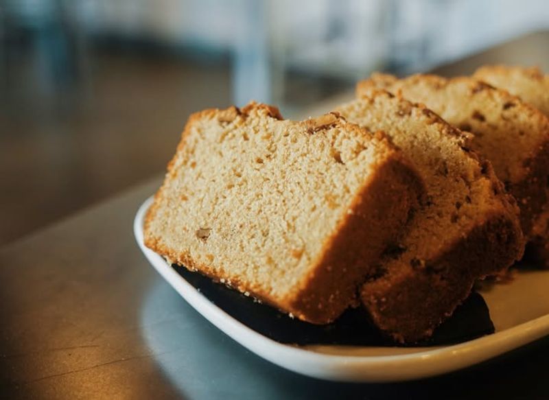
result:
[[[440,375],[477,364],[549,334],[549,271],[517,274],[512,283],[480,293],[495,333],[439,347],[291,346],[257,333],[211,303],[161,256],[143,246],[146,200],[134,222],[139,247],[152,266],[196,311],[233,340],[264,359],[296,373],[335,381],[404,381]]]

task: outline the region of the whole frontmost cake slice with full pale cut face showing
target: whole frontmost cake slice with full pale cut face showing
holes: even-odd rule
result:
[[[417,207],[423,183],[384,134],[336,114],[205,110],[187,122],[145,244],[291,313],[327,323]]]

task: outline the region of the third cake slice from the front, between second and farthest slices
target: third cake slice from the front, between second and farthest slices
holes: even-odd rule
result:
[[[537,242],[549,193],[549,119],[511,93],[469,77],[373,74],[359,94],[382,88],[428,106],[443,119],[474,134],[471,147],[489,159],[520,207],[522,231]]]

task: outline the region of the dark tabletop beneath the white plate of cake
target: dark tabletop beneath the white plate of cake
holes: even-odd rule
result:
[[[548,71],[549,32],[436,71],[484,63]],[[0,250],[0,397],[549,398],[549,338],[456,373],[399,384],[303,377],[244,349],[191,309],[135,244],[161,176]]]

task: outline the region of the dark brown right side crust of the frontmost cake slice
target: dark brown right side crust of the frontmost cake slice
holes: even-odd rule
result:
[[[356,196],[351,213],[325,244],[318,268],[303,278],[288,309],[316,324],[339,316],[365,277],[375,272],[375,260],[399,235],[424,191],[414,168],[398,152],[390,154]]]

